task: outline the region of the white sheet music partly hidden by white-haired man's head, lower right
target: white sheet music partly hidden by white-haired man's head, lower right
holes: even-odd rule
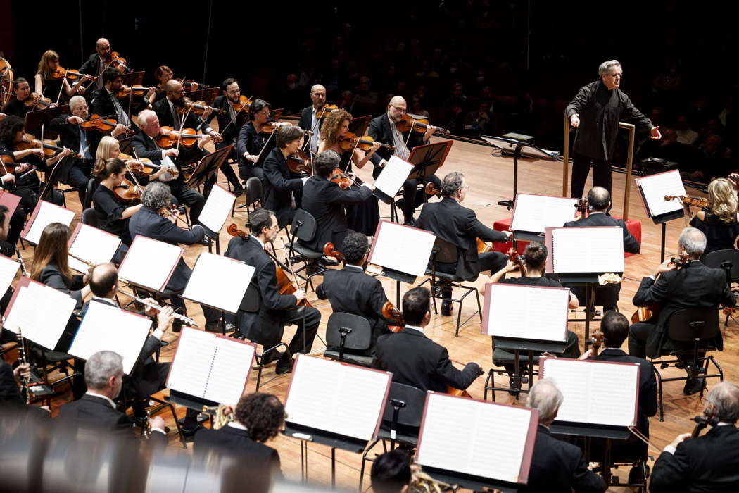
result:
[[[543,375],[552,378],[565,400],[557,421],[636,425],[638,364],[545,358]]]

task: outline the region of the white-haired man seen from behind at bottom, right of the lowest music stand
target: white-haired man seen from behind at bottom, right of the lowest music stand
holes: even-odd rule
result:
[[[563,400],[551,378],[540,378],[528,393],[526,405],[539,413],[539,427],[528,481],[519,492],[601,493],[607,489],[603,478],[588,469],[578,446],[551,435],[549,426]]]

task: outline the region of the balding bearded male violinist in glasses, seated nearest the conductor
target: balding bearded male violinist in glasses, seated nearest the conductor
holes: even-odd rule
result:
[[[426,129],[426,133],[423,135],[413,130],[407,132],[398,131],[398,123],[403,120],[403,116],[406,115],[407,111],[408,106],[406,100],[401,96],[395,96],[388,103],[386,114],[372,118],[369,122],[369,129],[367,130],[369,136],[377,142],[395,146],[395,155],[404,160],[408,159],[414,147],[429,143],[431,135],[436,130],[435,126],[429,125],[429,128]],[[393,152],[387,148],[378,149],[375,154],[372,154],[372,157],[369,158],[372,160],[372,164],[375,165],[375,170],[372,171],[372,177],[377,179],[392,154]],[[435,174],[423,177],[422,182],[424,184],[429,181],[434,183],[436,188],[439,188],[440,180]],[[398,207],[403,211],[403,222],[405,224],[412,225],[415,208],[423,203],[425,193],[423,191],[420,194],[416,193],[418,183],[420,182],[416,178],[411,178],[403,183],[403,199],[398,200]]]

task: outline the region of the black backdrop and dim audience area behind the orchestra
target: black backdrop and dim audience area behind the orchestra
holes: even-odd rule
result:
[[[701,134],[696,151],[719,131],[727,150],[739,146],[730,118],[738,89],[736,21],[723,2],[139,0],[126,7],[101,0],[41,2],[40,9],[27,1],[4,3],[2,11],[11,15],[0,20],[0,51],[16,76],[29,79],[44,50],[76,68],[103,35],[129,67],[146,70],[144,84],[154,83],[162,64],[176,77],[211,85],[236,77],[242,94],[286,112],[310,103],[315,82],[328,87],[330,102],[338,103],[346,89],[376,93],[378,101],[355,106],[354,116],[383,112],[387,95],[395,93],[410,106],[423,86],[432,123],[455,128],[477,109],[487,85],[494,133],[523,132],[540,146],[561,149],[565,104],[596,80],[602,61],[616,58],[624,69],[621,89],[647,116],[661,108],[658,123],[665,126],[689,115]],[[424,67],[439,77],[417,76]],[[289,89],[290,74],[303,85]],[[359,84],[363,75],[371,81],[368,90]],[[665,75],[669,89],[655,82]],[[463,97],[450,97],[455,83],[463,84]],[[452,111],[455,101],[461,116]],[[709,120],[724,109],[729,121],[717,130]],[[454,133],[474,137],[464,129]]]

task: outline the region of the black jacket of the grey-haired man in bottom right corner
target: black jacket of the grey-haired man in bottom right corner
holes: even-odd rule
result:
[[[662,452],[654,463],[650,492],[739,491],[739,430],[715,426],[705,435],[678,444],[675,455]]]

